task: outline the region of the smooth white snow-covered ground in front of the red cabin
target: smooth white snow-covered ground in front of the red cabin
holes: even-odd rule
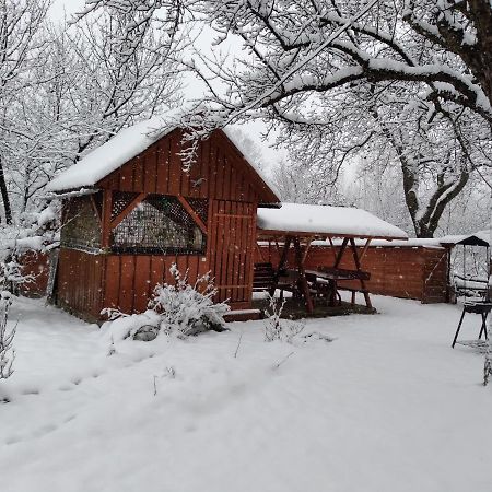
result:
[[[374,304],[307,321],[331,343],[266,343],[251,321],[107,356],[97,327],[17,302],[2,492],[489,492],[492,386],[449,347],[459,306]]]

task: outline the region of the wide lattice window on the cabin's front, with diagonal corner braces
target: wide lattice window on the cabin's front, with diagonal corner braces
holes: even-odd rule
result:
[[[122,202],[131,202],[130,194],[116,192],[113,215]],[[191,208],[203,220],[207,200]],[[206,215],[204,215],[206,218]],[[206,222],[207,223],[207,222]],[[114,230],[112,249],[115,253],[203,254],[207,238],[176,197],[149,195]]]

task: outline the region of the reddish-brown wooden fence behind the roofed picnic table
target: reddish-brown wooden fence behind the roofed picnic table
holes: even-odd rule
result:
[[[336,248],[337,249],[337,248]],[[261,246],[255,261],[279,261],[279,253],[272,244]],[[445,248],[423,247],[370,247],[362,260],[362,268],[371,273],[367,282],[373,294],[414,298],[422,303],[447,302],[447,255]],[[294,265],[293,250],[288,261]],[[333,251],[329,247],[313,246],[306,258],[306,268],[333,265]],[[350,251],[345,251],[340,268],[353,269]],[[360,286],[358,282],[341,282],[341,285]]]

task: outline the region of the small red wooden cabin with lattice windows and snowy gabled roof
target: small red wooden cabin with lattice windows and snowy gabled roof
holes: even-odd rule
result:
[[[63,199],[54,298],[80,317],[145,311],[172,263],[190,283],[210,271],[232,309],[251,305],[257,208],[279,198],[230,132],[201,141],[186,173],[183,130],[162,126],[122,130],[48,185]]]

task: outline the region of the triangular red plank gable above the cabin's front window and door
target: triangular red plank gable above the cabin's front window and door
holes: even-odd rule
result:
[[[189,173],[183,171],[181,139],[181,130],[172,131],[96,187],[250,203],[278,201],[222,131],[199,143],[197,162]]]

